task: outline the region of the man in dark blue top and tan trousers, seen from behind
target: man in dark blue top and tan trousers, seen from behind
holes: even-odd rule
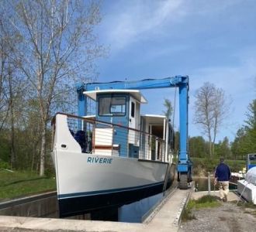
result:
[[[230,168],[224,163],[224,159],[220,158],[220,164],[215,170],[214,186],[219,182],[220,200],[227,202],[227,193],[229,192]]]

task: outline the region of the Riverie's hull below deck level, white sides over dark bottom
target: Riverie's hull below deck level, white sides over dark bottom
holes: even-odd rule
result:
[[[122,206],[161,193],[168,169],[167,162],[109,155],[54,151],[53,156],[60,217]]]

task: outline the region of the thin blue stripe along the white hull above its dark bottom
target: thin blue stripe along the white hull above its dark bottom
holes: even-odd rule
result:
[[[136,186],[136,187],[128,187],[128,188],[122,188],[122,189],[108,189],[108,190],[100,190],[100,191],[91,191],[91,192],[83,192],[83,193],[67,193],[67,194],[59,194],[57,195],[58,199],[64,199],[64,198],[71,198],[76,196],[92,196],[92,195],[102,195],[102,194],[109,194],[109,193],[119,193],[123,191],[130,191],[130,190],[136,190],[136,189],[144,189],[149,188],[153,186],[159,186],[164,184],[164,181],[153,183],[153,184],[147,184],[144,186]]]

